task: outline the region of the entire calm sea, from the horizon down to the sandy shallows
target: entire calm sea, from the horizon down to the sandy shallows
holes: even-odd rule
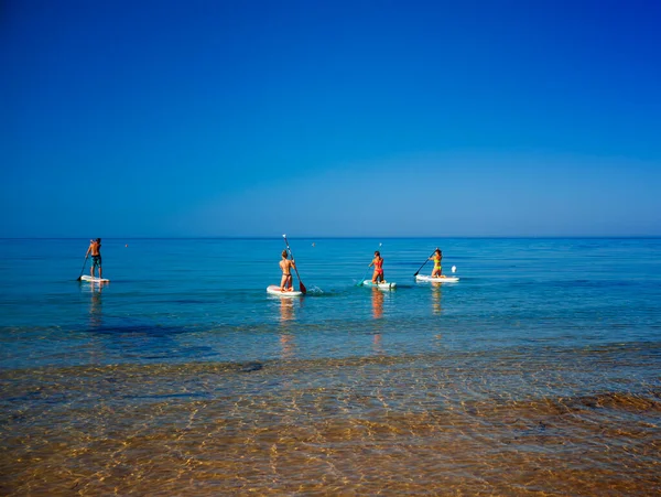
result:
[[[0,495],[661,494],[660,238],[88,245],[0,240]]]

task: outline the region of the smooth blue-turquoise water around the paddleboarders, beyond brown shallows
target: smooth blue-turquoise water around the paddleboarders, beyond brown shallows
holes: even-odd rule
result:
[[[375,326],[393,355],[425,352],[437,333],[456,352],[659,338],[658,239],[291,244],[308,295],[282,303],[266,293],[282,240],[105,240],[102,287],[74,281],[84,242],[4,240],[0,366],[278,359],[283,313],[302,359],[370,355]],[[379,244],[398,288],[375,294],[356,283]],[[412,278],[435,245],[459,283]],[[94,357],[80,353],[93,343]]]

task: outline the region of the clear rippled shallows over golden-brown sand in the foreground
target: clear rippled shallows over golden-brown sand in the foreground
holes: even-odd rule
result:
[[[644,378],[659,350],[627,354],[2,372],[0,490],[653,495],[661,389]],[[617,390],[576,380],[606,366]]]

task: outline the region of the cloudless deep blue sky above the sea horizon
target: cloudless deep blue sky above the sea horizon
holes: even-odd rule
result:
[[[661,236],[661,2],[0,1],[0,236]]]

